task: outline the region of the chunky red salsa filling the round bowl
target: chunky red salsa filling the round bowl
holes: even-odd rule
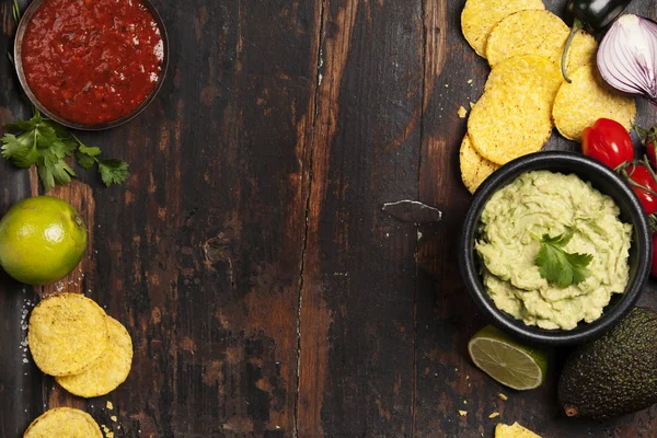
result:
[[[160,27],[140,0],[45,0],[21,48],[36,99],[77,124],[130,114],[162,77]]]

